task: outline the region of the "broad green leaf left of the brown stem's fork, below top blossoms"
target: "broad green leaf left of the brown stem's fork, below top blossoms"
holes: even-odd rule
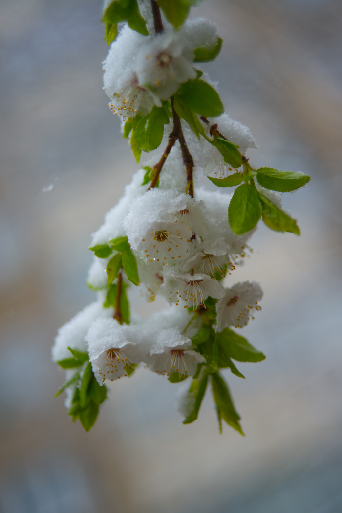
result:
[[[133,121],[133,137],[140,150],[149,152],[160,146],[164,125],[169,122],[166,107],[153,107],[145,117],[136,116]]]

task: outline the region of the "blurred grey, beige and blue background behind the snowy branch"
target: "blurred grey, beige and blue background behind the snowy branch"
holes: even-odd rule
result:
[[[99,0],[1,0],[0,511],[342,511],[342,3],[204,0],[224,39],[226,111],[251,128],[254,166],[301,170],[284,196],[302,236],[253,235],[232,275],[264,289],[243,334],[266,361],[226,373],[246,438],[211,398],[183,426],[177,384],[115,383],[93,430],[72,424],[50,361],[57,328],[94,300],[90,235],[138,169],[106,107]],[[144,300],[133,298],[147,314]]]

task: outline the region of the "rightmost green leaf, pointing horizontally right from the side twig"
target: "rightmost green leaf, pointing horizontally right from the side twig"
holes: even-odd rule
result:
[[[261,167],[257,169],[257,173],[259,184],[265,187],[265,189],[271,189],[272,191],[295,191],[310,181],[310,176],[307,174],[279,171],[269,167]]]

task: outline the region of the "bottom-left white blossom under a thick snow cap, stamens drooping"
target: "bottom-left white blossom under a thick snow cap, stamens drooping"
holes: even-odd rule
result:
[[[132,373],[142,360],[139,345],[130,342],[131,327],[115,319],[97,319],[90,327],[86,341],[94,375],[101,385]]]

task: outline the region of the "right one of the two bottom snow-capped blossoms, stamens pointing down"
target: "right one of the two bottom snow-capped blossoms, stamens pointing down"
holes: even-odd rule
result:
[[[205,359],[196,351],[191,350],[191,340],[174,328],[160,331],[150,351],[148,366],[172,380],[182,381],[194,376],[197,364]]]

